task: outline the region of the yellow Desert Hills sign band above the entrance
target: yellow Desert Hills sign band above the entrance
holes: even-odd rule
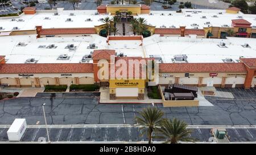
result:
[[[145,87],[144,79],[110,79],[109,87]]]

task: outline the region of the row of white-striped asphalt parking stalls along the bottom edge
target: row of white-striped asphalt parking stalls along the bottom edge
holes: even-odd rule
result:
[[[212,137],[210,128],[192,128],[191,137],[198,142],[208,142]],[[8,141],[8,128],[0,128],[0,141]],[[256,141],[256,128],[226,128],[230,142]],[[22,139],[23,142],[39,141],[40,137],[47,139],[46,128],[27,128]],[[137,127],[53,127],[49,128],[51,141],[148,141],[146,135],[141,135]],[[152,141],[164,141],[153,139]]]

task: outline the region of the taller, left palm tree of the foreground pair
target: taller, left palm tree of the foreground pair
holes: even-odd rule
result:
[[[144,108],[139,114],[142,116],[142,118],[135,117],[135,121],[138,123],[138,125],[141,125],[140,129],[143,131],[143,133],[147,132],[148,137],[148,144],[151,144],[152,141],[152,133],[159,129],[159,126],[162,122],[162,117],[164,113],[159,110],[158,108]]]

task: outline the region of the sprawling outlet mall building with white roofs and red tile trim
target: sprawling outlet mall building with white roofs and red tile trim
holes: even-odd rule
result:
[[[102,66],[98,64],[104,62],[110,68],[118,60],[155,60],[159,65],[156,85],[179,83],[245,89],[256,86],[256,40],[252,38],[256,36],[255,15],[243,15],[232,11],[234,8],[205,12],[185,9],[162,15],[137,5],[133,6],[134,16],[147,20],[150,37],[98,35],[104,27],[101,19],[116,10],[125,12],[130,7],[109,5],[101,6],[98,11],[28,8],[19,17],[0,19],[1,85],[44,87],[96,83],[109,87],[110,99],[143,99],[145,87],[154,81],[101,79],[98,71]],[[193,20],[181,20],[184,18],[198,20],[193,23]],[[66,19],[71,20],[66,22]],[[205,25],[208,20],[210,23]],[[222,24],[232,28],[237,37],[218,39],[226,31]],[[140,74],[140,69],[135,72]]]

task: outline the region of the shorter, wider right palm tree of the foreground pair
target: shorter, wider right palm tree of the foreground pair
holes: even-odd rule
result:
[[[159,129],[159,133],[163,136],[159,136],[161,138],[166,139],[166,143],[176,144],[178,141],[195,141],[189,135],[192,133],[191,129],[187,129],[187,124],[185,122],[180,122],[174,118],[171,119],[163,119],[161,128]]]

